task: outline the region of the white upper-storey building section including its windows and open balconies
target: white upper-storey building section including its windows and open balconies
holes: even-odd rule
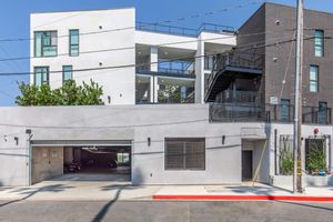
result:
[[[231,27],[142,23],[133,8],[33,13],[30,36],[31,83],[92,79],[105,104],[203,103],[212,54],[235,46]],[[159,101],[168,87],[178,87],[179,101]]]

